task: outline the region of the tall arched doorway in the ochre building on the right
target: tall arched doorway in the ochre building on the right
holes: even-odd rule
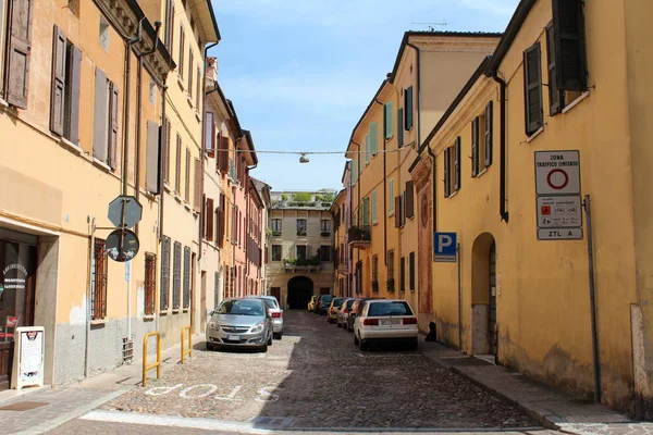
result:
[[[494,236],[483,233],[472,247],[471,325],[472,352],[496,358],[498,330],[496,323],[496,244]]]

